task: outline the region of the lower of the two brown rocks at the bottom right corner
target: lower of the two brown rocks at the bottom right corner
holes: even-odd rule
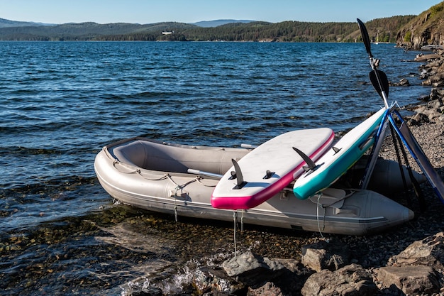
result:
[[[428,266],[388,266],[375,270],[377,280],[384,288],[393,290],[393,285],[406,295],[439,292],[438,276]]]

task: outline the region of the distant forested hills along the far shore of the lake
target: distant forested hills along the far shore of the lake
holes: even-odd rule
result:
[[[379,18],[366,23],[372,38],[396,42],[399,30],[415,16]],[[228,23],[202,28],[187,23],[65,23],[56,26],[1,27],[0,40],[148,40],[148,41],[279,41],[355,42],[360,40],[357,23]]]

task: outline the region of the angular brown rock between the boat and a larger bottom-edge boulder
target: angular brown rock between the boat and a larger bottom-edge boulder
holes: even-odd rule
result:
[[[302,247],[302,264],[316,271],[338,270],[350,263],[350,251],[344,243],[319,241]]]

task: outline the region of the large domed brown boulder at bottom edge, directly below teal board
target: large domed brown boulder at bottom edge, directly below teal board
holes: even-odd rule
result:
[[[314,273],[301,289],[304,296],[373,296],[376,292],[370,273],[357,264]]]

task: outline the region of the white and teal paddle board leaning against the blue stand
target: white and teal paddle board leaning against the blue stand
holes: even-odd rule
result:
[[[293,186],[299,199],[306,199],[332,185],[359,160],[374,143],[377,128],[384,118],[383,108],[346,133],[316,161],[316,166],[301,175]],[[304,150],[302,150],[304,152]]]

